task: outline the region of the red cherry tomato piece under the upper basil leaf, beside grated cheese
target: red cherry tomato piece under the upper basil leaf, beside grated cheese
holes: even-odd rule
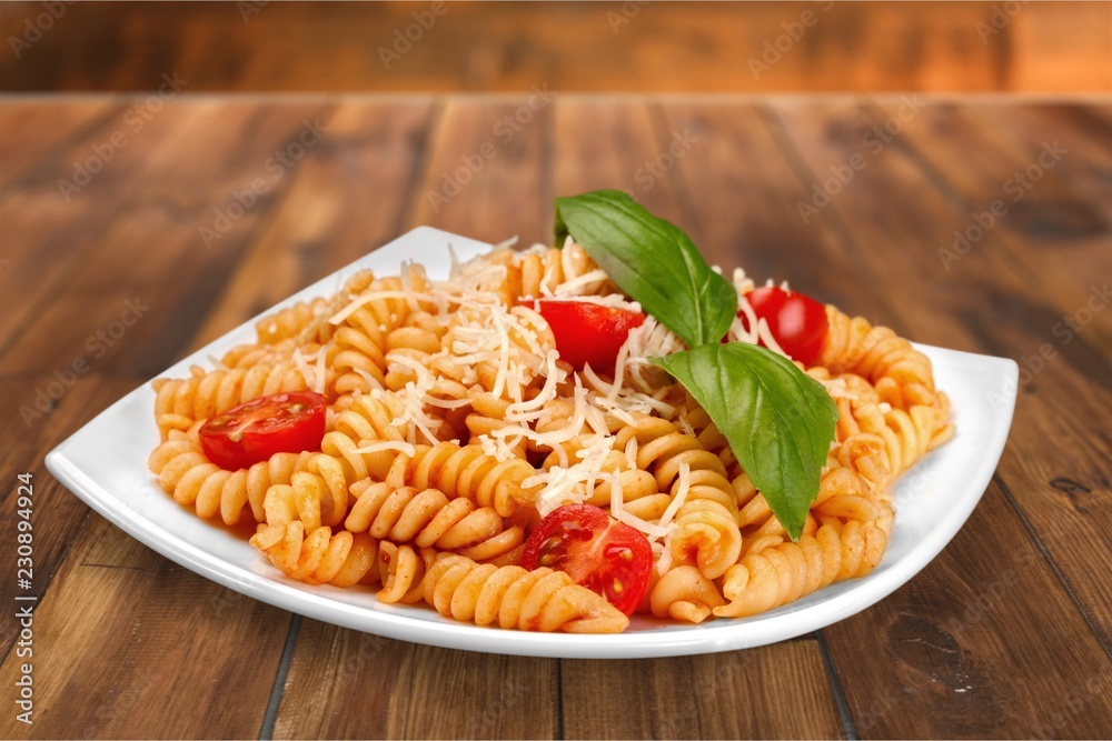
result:
[[[645,314],[638,311],[559,299],[540,299],[540,316],[553,328],[562,360],[577,370],[589,363],[592,370],[603,373],[614,372],[614,361],[629,330],[645,322]]]

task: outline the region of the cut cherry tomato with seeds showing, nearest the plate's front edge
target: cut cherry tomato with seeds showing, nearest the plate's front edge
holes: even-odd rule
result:
[[[638,530],[592,504],[553,510],[525,541],[522,565],[564,571],[633,614],[648,590],[653,548]]]

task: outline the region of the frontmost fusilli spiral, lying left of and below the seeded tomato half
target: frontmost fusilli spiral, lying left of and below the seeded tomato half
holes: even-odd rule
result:
[[[629,619],[563,571],[478,564],[441,555],[425,577],[425,601],[441,615],[474,622],[570,633],[618,633]]]

